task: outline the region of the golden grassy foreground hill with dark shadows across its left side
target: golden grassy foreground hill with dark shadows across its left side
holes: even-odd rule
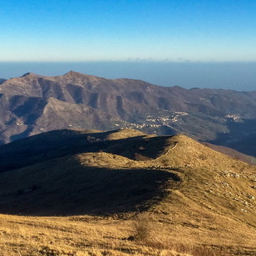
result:
[[[79,134],[0,174],[1,255],[256,254],[255,166],[184,135]]]

